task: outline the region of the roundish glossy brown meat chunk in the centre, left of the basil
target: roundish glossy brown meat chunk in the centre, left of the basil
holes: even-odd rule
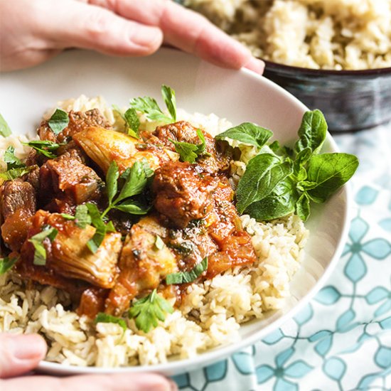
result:
[[[154,206],[174,227],[184,228],[212,210],[218,183],[218,179],[195,164],[164,164],[156,170],[152,183]]]

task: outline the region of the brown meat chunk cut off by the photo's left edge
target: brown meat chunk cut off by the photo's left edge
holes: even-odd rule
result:
[[[1,236],[12,251],[21,249],[26,240],[31,216],[36,212],[36,193],[21,179],[6,181],[0,188]]]

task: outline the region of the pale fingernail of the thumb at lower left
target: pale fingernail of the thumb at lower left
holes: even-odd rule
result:
[[[9,348],[11,350],[10,353],[18,360],[43,358],[46,353],[46,343],[37,334],[9,336]]]

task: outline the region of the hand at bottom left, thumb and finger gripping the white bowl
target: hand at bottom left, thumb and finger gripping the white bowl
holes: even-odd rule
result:
[[[0,390],[1,391],[173,391],[176,385],[153,373],[79,375],[70,377],[22,376],[45,357],[46,343],[38,335],[0,333]],[[13,377],[4,380],[7,377]],[[1,380],[3,379],[3,380]]]

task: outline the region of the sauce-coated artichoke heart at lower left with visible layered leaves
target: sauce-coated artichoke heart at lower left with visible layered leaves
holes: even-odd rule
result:
[[[122,247],[121,234],[107,233],[97,252],[92,254],[87,242],[94,234],[95,227],[91,225],[81,229],[73,221],[64,222],[52,243],[50,267],[64,277],[83,279],[106,289],[112,288]]]

